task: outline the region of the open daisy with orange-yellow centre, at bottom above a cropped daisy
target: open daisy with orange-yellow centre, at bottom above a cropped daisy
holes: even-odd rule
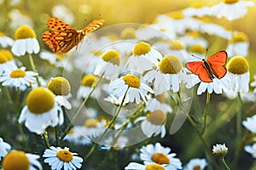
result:
[[[176,153],[170,153],[171,148],[163,147],[160,143],[143,146],[140,152],[140,158],[143,161],[165,165],[172,170],[183,168],[180,159],[174,157]]]

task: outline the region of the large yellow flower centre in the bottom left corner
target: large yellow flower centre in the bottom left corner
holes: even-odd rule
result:
[[[4,170],[28,170],[30,163],[24,151],[9,151],[7,156],[3,158]]]

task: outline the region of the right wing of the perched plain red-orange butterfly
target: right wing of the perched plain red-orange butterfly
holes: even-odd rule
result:
[[[218,79],[224,77],[227,73],[227,70],[224,67],[227,61],[227,56],[227,52],[219,51],[217,54],[213,54],[207,59],[207,62],[211,65],[214,76]]]

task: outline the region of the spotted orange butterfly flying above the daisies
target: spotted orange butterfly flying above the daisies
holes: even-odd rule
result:
[[[55,17],[49,17],[47,27],[51,31],[45,31],[42,38],[55,53],[67,53],[70,49],[77,46],[90,32],[96,31],[96,29],[102,26],[103,23],[104,20],[93,20],[83,30],[76,31],[72,26],[67,25],[63,21]]]

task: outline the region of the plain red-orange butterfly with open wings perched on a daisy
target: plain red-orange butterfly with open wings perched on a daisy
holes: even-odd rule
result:
[[[217,54],[213,54],[208,59],[202,59],[202,61],[192,61],[186,63],[186,67],[198,75],[201,82],[212,82],[213,78],[221,79],[227,73],[224,65],[227,61],[227,52],[219,51]]]

